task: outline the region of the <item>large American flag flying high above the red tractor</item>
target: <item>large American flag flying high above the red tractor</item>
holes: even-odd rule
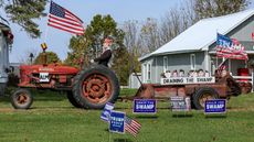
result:
[[[47,25],[76,35],[84,34],[83,21],[63,7],[51,1]]]

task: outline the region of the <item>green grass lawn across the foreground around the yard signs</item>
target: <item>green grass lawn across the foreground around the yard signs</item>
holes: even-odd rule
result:
[[[233,97],[225,118],[195,110],[192,117],[172,117],[169,102],[161,101],[156,116],[138,116],[130,101],[117,102],[116,110],[142,124],[136,139],[109,133],[100,110],[76,109],[57,92],[36,92],[29,110],[12,109],[8,98],[0,101],[0,142],[254,142],[254,94]]]

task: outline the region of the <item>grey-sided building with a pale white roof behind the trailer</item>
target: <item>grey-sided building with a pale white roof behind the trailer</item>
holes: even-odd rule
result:
[[[160,83],[166,70],[178,72],[203,69],[214,74],[222,62],[215,55],[216,33],[236,39],[245,46],[250,59],[254,59],[254,9],[234,14],[203,19],[157,51],[139,58],[142,83]],[[229,59],[226,65],[232,75],[246,67],[244,61]]]

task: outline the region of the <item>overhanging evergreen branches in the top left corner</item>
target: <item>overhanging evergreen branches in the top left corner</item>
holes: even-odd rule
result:
[[[0,8],[3,8],[11,22],[19,24],[31,37],[38,37],[41,32],[34,20],[46,15],[43,12],[46,2],[47,0],[0,0]]]

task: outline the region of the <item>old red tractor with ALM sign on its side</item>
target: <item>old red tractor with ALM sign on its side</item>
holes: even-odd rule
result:
[[[67,92],[70,102],[77,108],[102,109],[119,95],[119,83],[108,67],[94,65],[88,68],[46,64],[21,65],[19,89],[11,96],[15,109],[28,109],[33,102],[29,88],[53,89]]]

